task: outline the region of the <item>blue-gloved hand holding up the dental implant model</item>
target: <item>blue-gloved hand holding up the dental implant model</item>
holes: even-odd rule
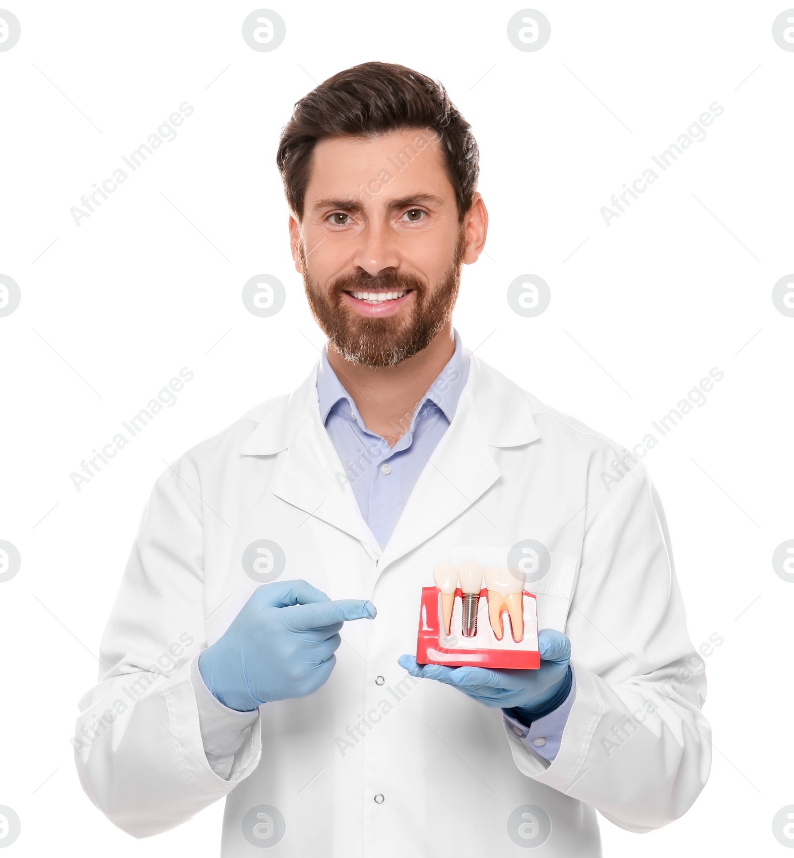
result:
[[[538,634],[540,667],[537,670],[447,668],[441,664],[419,667],[414,656],[400,656],[400,667],[412,676],[445,682],[486,706],[511,709],[519,720],[537,720],[562,704],[571,686],[568,662],[571,644],[562,631],[543,629]]]

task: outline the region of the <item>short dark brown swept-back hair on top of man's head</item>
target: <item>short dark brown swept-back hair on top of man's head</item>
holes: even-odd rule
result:
[[[340,71],[298,101],[281,131],[276,164],[290,208],[304,215],[311,154],[317,141],[336,136],[377,136],[391,131],[436,130],[444,142],[458,217],[472,207],[479,152],[471,126],[442,84],[394,63],[362,63]],[[436,137],[436,138],[437,138]]]

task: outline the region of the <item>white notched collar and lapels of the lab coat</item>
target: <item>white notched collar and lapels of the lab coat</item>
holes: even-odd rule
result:
[[[490,447],[516,447],[540,437],[526,392],[471,355],[454,419],[381,549],[361,516],[345,468],[322,425],[317,366],[290,396],[266,402],[250,414],[258,426],[240,452],[274,456],[286,450],[274,494],[307,516],[358,539],[370,555],[381,558],[379,571],[460,516],[500,478]]]

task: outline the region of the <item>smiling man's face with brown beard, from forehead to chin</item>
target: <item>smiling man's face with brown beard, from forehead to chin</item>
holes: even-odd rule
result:
[[[296,268],[328,340],[353,363],[390,366],[448,323],[467,258],[441,137],[411,129],[318,142]]]

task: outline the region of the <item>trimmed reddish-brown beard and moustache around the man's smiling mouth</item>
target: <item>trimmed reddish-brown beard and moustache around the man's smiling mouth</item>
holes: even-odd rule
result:
[[[424,280],[384,269],[372,276],[358,269],[352,275],[338,277],[322,286],[308,272],[303,245],[300,259],[304,269],[304,289],[312,316],[328,337],[328,342],[352,364],[394,366],[421,352],[452,317],[460,289],[460,269],[466,251],[466,236],[460,234],[454,257],[438,285],[432,291]],[[345,292],[413,293],[412,305],[392,316],[358,316],[342,303]]]

